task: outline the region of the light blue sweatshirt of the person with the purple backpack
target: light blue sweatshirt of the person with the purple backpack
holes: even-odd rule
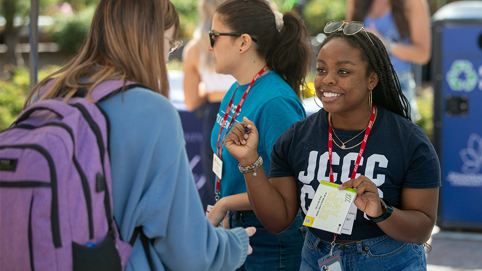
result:
[[[110,119],[113,213],[124,240],[138,226],[153,239],[157,270],[234,270],[246,259],[243,228],[214,228],[204,215],[169,100],[134,88],[99,104]],[[126,270],[148,270],[141,241]]]

